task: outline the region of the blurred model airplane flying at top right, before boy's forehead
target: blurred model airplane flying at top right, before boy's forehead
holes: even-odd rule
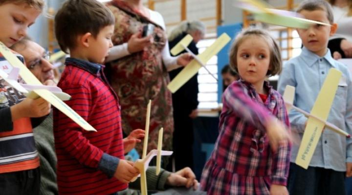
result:
[[[257,21],[274,24],[278,26],[286,26],[291,28],[309,28],[312,24],[328,25],[328,23],[307,20],[296,12],[286,10],[273,9],[263,0],[236,0],[235,5],[254,15]]]

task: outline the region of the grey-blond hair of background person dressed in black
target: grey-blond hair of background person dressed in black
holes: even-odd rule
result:
[[[170,33],[169,41],[174,40],[176,37],[181,35],[182,33],[192,33],[195,31],[201,32],[203,35],[205,34],[205,25],[203,22],[199,20],[193,21],[182,21],[178,26],[176,26]]]

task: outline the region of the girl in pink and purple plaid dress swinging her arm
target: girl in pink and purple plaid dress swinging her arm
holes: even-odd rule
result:
[[[231,46],[230,65],[241,79],[223,94],[220,135],[204,167],[201,190],[287,195],[290,144],[277,119],[287,128],[289,121],[283,98],[265,81],[281,71],[280,49],[267,32],[243,30]]]

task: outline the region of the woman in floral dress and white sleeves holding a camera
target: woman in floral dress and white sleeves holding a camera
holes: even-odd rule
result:
[[[106,59],[106,75],[119,97],[125,134],[145,126],[152,100],[148,151],[156,149],[158,130],[164,128],[163,150],[172,150],[174,119],[168,71],[187,65],[192,57],[171,57],[162,16],[143,6],[142,0],[112,0],[115,16],[114,47]],[[136,146],[142,154],[142,144]],[[164,167],[168,163],[164,159]]]

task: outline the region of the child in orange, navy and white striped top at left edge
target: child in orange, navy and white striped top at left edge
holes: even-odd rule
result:
[[[43,0],[0,0],[0,41],[10,47],[26,36],[28,27],[35,22],[43,6]],[[24,61],[22,56],[17,56]],[[6,73],[12,70],[2,54],[0,69]],[[1,195],[39,193],[39,157],[32,128],[49,112],[50,104],[43,98],[25,98],[0,78]]]

